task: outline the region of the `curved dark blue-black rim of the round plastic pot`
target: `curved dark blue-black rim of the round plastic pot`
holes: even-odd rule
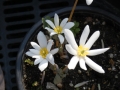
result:
[[[71,11],[72,7],[66,7],[60,10],[57,10],[55,12],[51,12],[49,14],[47,14],[46,16],[50,16],[53,17],[55,13],[57,14],[61,14],[64,12],[68,12]],[[96,14],[102,14],[103,16],[109,18],[110,20],[113,20],[114,22],[120,24],[120,18],[113,15],[110,12],[107,12],[105,10],[96,8],[96,7],[89,7],[89,6],[77,6],[75,11],[89,11],[92,13],[96,13]],[[23,81],[22,81],[22,72],[21,72],[21,58],[22,58],[22,53],[24,52],[24,47],[26,46],[27,41],[29,40],[30,36],[32,35],[32,33],[42,24],[42,20],[38,21],[35,25],[32,26],[32,28],[29,30],[29,32],[27,33],[27,35],[25,36],[24,40],[22,41],[22,44],[20,46],[18,55],[17,55],[17,61],[16,61],[16,80],[17,80],[17,85],[18,85],[18,90],[25,90],[25,87],[23,85]]]

